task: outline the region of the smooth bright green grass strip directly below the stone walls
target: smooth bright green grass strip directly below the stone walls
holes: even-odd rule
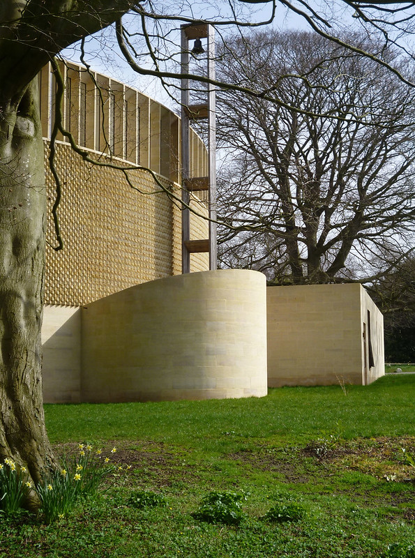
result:
[[[415,434],[408,421],[414,377],[382,377],[370,386],[271,389],[239,400],[45,405],[52,442],[141,439],[197,451],[231,451],[261,440],[302,444],[340,425],[343,437]]]

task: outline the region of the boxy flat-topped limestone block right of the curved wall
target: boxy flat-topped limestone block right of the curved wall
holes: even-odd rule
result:
[[[368,310],[375,366],[365,372]],[[267,312],[269,387],[365,384],[384,374],[382,315],[361,285],[267,287]]]

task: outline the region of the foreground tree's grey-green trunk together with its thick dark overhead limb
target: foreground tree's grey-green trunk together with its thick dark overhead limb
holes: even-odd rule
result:
[[[36,75],[129,7],[124,0],[0,6],[0,459],[27,466],[35,483],[54,465],[41,380],[46,195]],[[36,505],[33,493],[29,507]]]

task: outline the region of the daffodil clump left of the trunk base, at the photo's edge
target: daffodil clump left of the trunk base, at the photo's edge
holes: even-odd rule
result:
[[[19,468],[8,458],[4,463],[0,463],[0,511],[2,513],[10,515],[22,508],[24,499],[31,490],[31,482],[27,478],[26,467]]]

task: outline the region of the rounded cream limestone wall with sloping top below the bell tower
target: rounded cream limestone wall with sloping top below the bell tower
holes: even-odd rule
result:
[[[227,269],[167,277],[81,312],[83,401],[267,393],[262,273]]]

